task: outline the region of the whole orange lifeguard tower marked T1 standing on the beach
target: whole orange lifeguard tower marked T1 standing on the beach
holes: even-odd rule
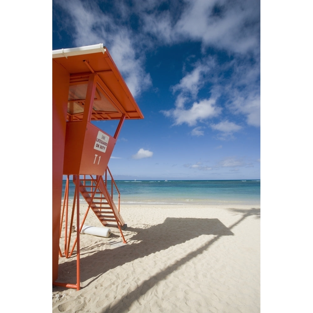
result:
[[[88,210],[91,208],[103,226],[115,221],[120,229],[125,225],[118,207],[113,201],[114,179],[108,162],[127,119],[143,119],[143,115],[131,95],[121,73],[103,44],[52,51],[52,281],[53,285],[80,289],[79,234]],[[113,136],[96,127],[91,121],[117,120]],[[111,176],[111,192],[107,175]],[[62,209],[62,180],[67,183]],[[75,187],[71,225],[76,205],[77,238],[71,252],[71,229],[65,223],[65,248],[61,252],[61,234],[64,206],[68,199],[69,175],[73,175]],[[105,180],[103,176],[105,175]],[[117,189],[117,186],[115,184]],[[118,189],[117,189],[118,190]],[[89,204],[85,218],[79,221],[79,196]],[[103,207],[105,205],[105,207]],[[67,215],[66,215],[67,216]],[[59,256],[71,256],[77,244],[76,284],[56,282]]]

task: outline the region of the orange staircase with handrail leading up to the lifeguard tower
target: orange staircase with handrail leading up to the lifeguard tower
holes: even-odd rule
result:
[[[107,170],[109,171],[108,168]],[[113,201],[113,185],[118,193],[118,197],[120,197],[120,192],[111,176],[111,194],[109,193],[106,174],[107,171],[105,172],[105,182],[100,175],[97,175],[96,178],[92,175],[88,175],[90,178],[86,178],[86,175],[84,175],[79,180],[80,194],[84,197],[85,201],[89,204],[89,208],[92,209],[103,226],[125,229],[127,224],[125,224],[120,214],[120,201],[118,201],[118,208]],[[73,182],[76,183],[76,175],[73,175]]]

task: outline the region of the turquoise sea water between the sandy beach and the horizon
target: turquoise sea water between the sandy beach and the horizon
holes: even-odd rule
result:
[[[121,204],[260,204],[260,180],[115,181]],[[108,181],[110,186],[110,181]],[[63,192],[65,181],[63,181]],[[110,190],[111,187],[108,187]],[[75,185],[70,181],[69,201]],[[80,199],[83,198],[80,196]],[[114,200],[117,202],[116,193]]]

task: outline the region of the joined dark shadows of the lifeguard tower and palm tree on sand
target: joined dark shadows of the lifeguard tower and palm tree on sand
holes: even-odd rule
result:
[[[171,246],[181,244],[187,240],[196,238],[203,234],[214,235],[215,238],[209,240],[206,244],[193,251],[186,252],[185,257],[177,260],[174,264],[168,266],[166,270],[157,273],[148,280],[143,281],[136,290],[131,291],[123,299],[122,302],[116,305],[108,304],[103,309],[102,313],[106,312],[124,312],[127,308],[136,301],[141,295],[144,295],[149,289],[153,287],[156,281],[164,280],[167,275],[178,269],[181,265],[195,258],[201,254],[211,244],[217,241],[221,236],[233,235],[231,229],[241,223],[249,216],[260,217],[260,209],[251,208],[250,210],[229,209],[235,214],[240,214],[237,222],[227,228],[217,218],[166,218],[162,224],[157,225],[140,225],[140,228],[127,227],[127,232],[136,233],[131,237],[131,240],[138,241],[137,244],[123,245],[116,249],[105,249],[96,251],[94,254],[86,255],[84,251],[99,248],[103,244],[97,244],[92,247],[82,248],[81,261],[80,261],[80,280],[86,281],[90,277],[95,277],[92,281],[96,280],[99,276],[104,274],[109,269],[114,269],[117,266],[131,262],[135,259],[142,258],[151,253],[165,250]],[[171,236],[175,233],[175,236]],[[127,240],[127,239],[126,239]],[[85,253],[86,254],[86,253]],[[108,260],[110,260],[108,262]],[[101,266],[99,264],[101,263]],[[63,277],[67,281],[76,281],[76,257],[73,260],[59,264],[59,278],[62,281],[62,273],[66,274]],[[88,283],[88,285],[91,281]],[[58,290],[67,290],[67,288],[57,287]],[[82,287],[83,289],[84,287]]]

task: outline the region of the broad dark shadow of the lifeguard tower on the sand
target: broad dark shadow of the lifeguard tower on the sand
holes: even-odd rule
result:
[[[135,225],[136,226],[136,225]],[[166,218],[157,225],[138,225],[127,227],[127,232],[134,235],[132,244],[123,244],[115,249],[101,249],[106,244],[80,249],[80,280],[84,282],[91,277],[99,277],[110,269],[121,266],[135,259],[182,244],[201,235],[230,236],[233,233],[217,218]],[[115,236],[116,237],[116,236]],[[90,254],[90,251],[97,251]],[[76,256],[59,264],[58,281],[76,281]],[[109,261],[108,261],[109,260]],[[99,266],[101,264],[101,266]],[[91,281],[90,281],[91,282]],[[90,284],[89,282],[89,284]],[[59,290],[67,288],[57,287]],[[82,287],[84,288],[84,287]]]

